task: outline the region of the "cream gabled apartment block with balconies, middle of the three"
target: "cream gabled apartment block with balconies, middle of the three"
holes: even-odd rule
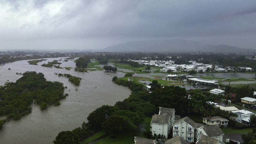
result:
[[[180,136],[188,142],[196,142],[196,129],[202,125],[189,117],[184,117],[172,124],[172,136]]]

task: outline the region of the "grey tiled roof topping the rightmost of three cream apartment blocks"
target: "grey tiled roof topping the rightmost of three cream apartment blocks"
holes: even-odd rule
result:
[[[221,135],[224,135],[224,133],[222,132],[218,125],[204,125],[203,130],[209,137],[219,137]]]

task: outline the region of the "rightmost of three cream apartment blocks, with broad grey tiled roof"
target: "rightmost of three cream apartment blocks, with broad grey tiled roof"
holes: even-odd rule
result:
[[[218,125],[202,125],[197,129],[196,140],[199,141],[202,135],[217,139],[223,142],[224,133]]]

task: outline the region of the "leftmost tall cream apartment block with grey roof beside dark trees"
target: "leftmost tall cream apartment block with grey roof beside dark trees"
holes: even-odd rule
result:
[[[159,107],[159,114],[152,116],[151,131],[152,134],[163,135],[165,138],[171,131],[171,125],[174,122],[175,110],[173,108]]]

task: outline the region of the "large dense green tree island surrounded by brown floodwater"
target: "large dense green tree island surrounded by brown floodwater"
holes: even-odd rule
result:
[[[65,97],[63,83],[46,81],[42,73],[27,71],[15,83],[0,87],[0,116],[7,115],[7,121],[18,120],[31,112],[32,103],[45,109]]]

